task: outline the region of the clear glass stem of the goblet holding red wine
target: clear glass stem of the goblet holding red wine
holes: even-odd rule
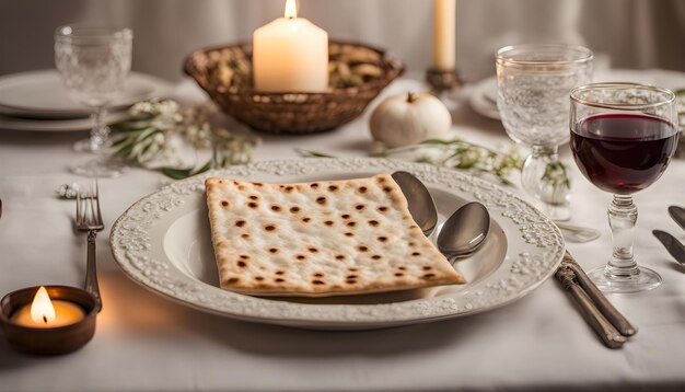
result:
[[[638,208],[632,203],[632,196],[614,195],[614,200],[608,205],[607,215],[614,240],[614,252],[606,265],[605,274],[615,279],[634,278],[640,274],[640,270],[632,257],[635,223],[638,220]]]

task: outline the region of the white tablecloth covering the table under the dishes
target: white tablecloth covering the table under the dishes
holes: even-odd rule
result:
[[[685,87],[685,73],[626,71],[643,81]],[[662,82],[666,83],[666,82]],[[384,95],[417,91],[414,79],[393,83]],[[466,103],[453,111],[453,132],[487,146],[507,146],[502,125]],[[177,87],[186,102],[205,100],[189,81]],[[378,103],[378,101],[375,101]],[[369,112],[337,130],[312,136],[259,135],[256,160],[297,159],[295,148],[367,155],[372,148]],[[230,126],[235,126],[227,119]],[[0,293],[39,284],[80,286],[85,239],[74,235],[73,201],[55,197],[65,183],[85,180],[67,171],[70,146],[83,132],[0,130]],[[572,223],[599,229],[591,243],[568,244],[585,268],[603,265],[611,251],[605,208],[611,196],[562,160],[574,178]],[[106,232],[132,203],[155,192],[163,178],[132,170],[101,180],[106,231],[97,239],[104,309],[93,341],[58,357],[12,351],[0,338],[2,391],[314,391],[314,390],[657,390],[685,388],[685,274],[651,230],[683,232],[666,214],[685,205],[685,161],[636,195],[636,253],[664,284],[649,292],[612,295],[638,327],[622,349],[605,348],[554,280],[507,307],[456,320],[365,332],[304,331],[234,321],[164,299],[127,278],[111,254]]]

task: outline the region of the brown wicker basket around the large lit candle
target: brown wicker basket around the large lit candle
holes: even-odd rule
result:
[[[360,59],[365,61],[365,57],[379,74],[359,85],[329,88],[323,93],[257,92],[252,88],[252,48],[247,44],[197,50],[186,58],[184,70],[223,112],[239,122],[269,132],[309,134],[333,129],[355,119],[381,90],[404,71],[399,60],[365,45],[330,42],[328,49],[332,58],[341,53],[351,54],[349,66],[359,65]],[[245,72],[228,71],[230,83],[212,80],[209,77],[211,67],[222,58],[233,61],[230,62],[232,67],[237,60]]]

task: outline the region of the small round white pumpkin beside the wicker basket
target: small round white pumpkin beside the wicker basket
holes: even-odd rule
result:
[[[450,111],[429,93],[391,96],[373,111],[369,120],[373,139],[388,147],[443,139],[451,126]]]

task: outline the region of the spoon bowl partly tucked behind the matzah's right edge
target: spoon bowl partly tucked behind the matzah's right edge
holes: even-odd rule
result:
[[[411,218],[421,228],[423,235],[430,237],[438,224],[438,209],[430,192],[411,173],[399,171],[392,176],[407,198]]]

